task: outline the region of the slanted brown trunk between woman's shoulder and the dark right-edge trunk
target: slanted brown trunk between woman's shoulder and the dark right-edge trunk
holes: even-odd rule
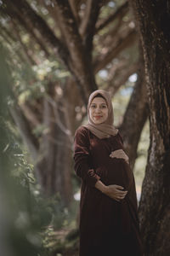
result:
[[[139,52],[138,79],[134,85],[133,94],[124,114],[122,125],[119,127],[132,169],[137,158],[139,138],[148,118],[148,102],[144,83],[144,59],[141,49]]]

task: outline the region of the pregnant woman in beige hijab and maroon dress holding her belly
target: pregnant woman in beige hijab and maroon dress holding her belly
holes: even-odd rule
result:
[[[79,256],[143,255],[133,172],[105,90],[89,96],[88,125],[76,131],[74,160],[82,178]]]

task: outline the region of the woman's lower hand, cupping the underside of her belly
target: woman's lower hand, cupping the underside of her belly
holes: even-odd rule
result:
[[[122,191],[122,189],[124,189],[122,186],[116,184],[108,185],[105,186],[104,194],[108,195],[109,197],[116,201],[121,201],[127,195],[127,191]]]

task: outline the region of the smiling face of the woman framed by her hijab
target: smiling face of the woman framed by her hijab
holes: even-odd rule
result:
[[[108,107],[105,99],[96,97],[90,104],[89,116],[94,124],[102,124],[108,118]]]

